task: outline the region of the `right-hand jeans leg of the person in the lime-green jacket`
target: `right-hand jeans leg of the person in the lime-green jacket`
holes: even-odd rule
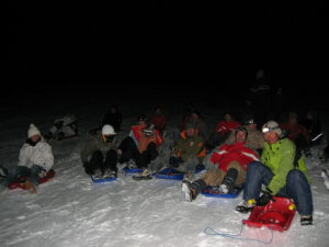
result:
[[[296,169],[290,171],[286,191],[287,195],[294,200],[299,215],[313,215],[310,186],[302,171]]]

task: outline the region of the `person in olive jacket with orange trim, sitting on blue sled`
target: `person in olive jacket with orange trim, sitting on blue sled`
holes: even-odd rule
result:
[[[174,143],[169,165],[179,172],[184,172],[184,179],[192,180],[195,169],[202,165],[205,157],[204,138],[198,135],[194,122],[186,122],[185,130]]]

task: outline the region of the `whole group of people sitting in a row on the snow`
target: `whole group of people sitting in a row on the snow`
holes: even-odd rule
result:
[[[193,111],[183,117],[179,135],[171,135],[170,139],[166,133],[167,119],[161,108],[157,108],[151,117],[139,115],[137,124],[120,141],[122,115],[114,110],[111,114],[116,114],[117,124],[103,121],[100,133],[81,150],[83,168],[93,179],[117,177],[117,164],[125,164],[128,169],[141,168],[136,180],[151,179],[152,173],[170,167],[184,173],[181,188],[186,201],[195,200],[208,186],[220,193],[243,187],[245,201],[236,207],[238,212],[248,213],[256,205],[266,205],[274,195],[286,197],[294,200],[300,224],[313,224],[310,179],[304,156],[297,154],[299,147],[307,149],[310,137],[304,135],[303,127],[296,127],[296,114],[290,115],[287,125],[268,121],[259,130],[252,116],[241,124],[226,113],[207,137],[204,121]],[[294,130],[299,131],[295,134]],[[7,175],[5,181],[26,176],[26,188],[35,193],[38,179],[54,165],[54,155],[33,124],[27,136],[19,166]],[[169,141],[172,144],[164,145]],[[194,179],[197,166],[206,171]]]

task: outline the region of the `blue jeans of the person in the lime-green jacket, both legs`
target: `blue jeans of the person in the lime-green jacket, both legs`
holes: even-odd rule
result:
[[[251,162],[248,166],[243,200],[258,200],[262,184],[268,186],[273,176],[271,169],[259,161]],[[276,195],[293,199],[300,215],[311,215],[313,198],[310,186],[300,170],[293,169],[288,172],[286,184]]]

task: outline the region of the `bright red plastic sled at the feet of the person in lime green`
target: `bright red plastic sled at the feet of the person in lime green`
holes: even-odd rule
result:
[[[286,231],[295,216],[296,206],[287,198],[274,197],[275,202],[271,201],[265,206],[254,206],[248,220],[242,224],[249,227],[266,226],[270,229]]]

